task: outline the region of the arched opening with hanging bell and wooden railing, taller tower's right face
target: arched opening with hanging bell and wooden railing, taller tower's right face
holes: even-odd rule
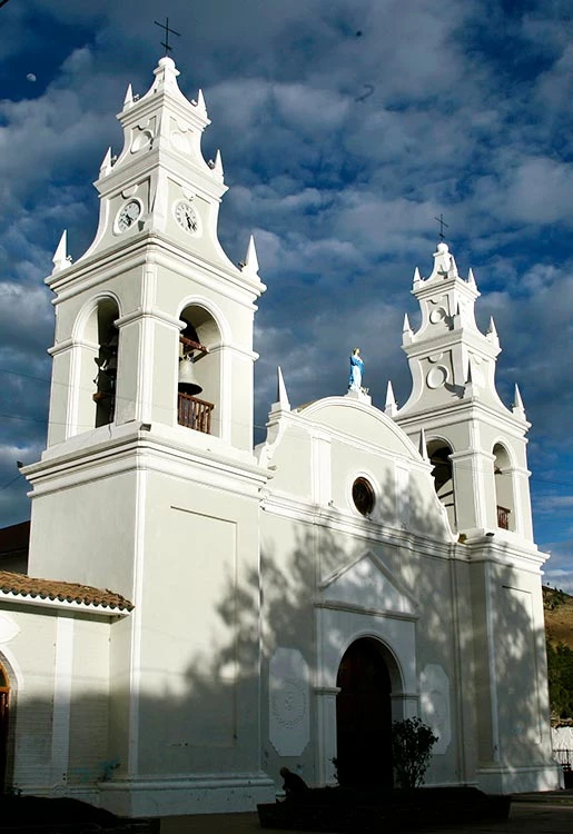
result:
[[[198,305],[184,309],[179,337],[177,421],[220,435],[220,332],[211,314]]]

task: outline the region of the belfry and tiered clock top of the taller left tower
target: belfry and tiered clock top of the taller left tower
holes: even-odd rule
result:
[[[205,100],[199,91],[189,102],[178,75],[161,58],[145,96],[128,88],[124,149],[119,158],[107,151],[96,182],[95,240],[71,264],[63,235],[55,255],[49,447],[140,421],[209,426],[226,445],[250,449],[254,301],[265,287],[253,241],[240,268],[218,241],[221,157],[202,158]],[[184,358],[198,403],[178,397]]]

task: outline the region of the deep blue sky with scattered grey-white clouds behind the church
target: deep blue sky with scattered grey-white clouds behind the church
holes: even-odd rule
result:
[[[434,218],[472,267],[528,419],[546,579],[573,590],[573,10],[560,0],[9,0],[0,8],[0,525],[28,517],[16,461],[45,444],[62,229],[76,258],[127,85],[145,92],[168,14],[180,87],[202,88],[230,187],[220,238],[254,232],[268,290],[256,328],[256,423],[281,365],[293,404],[343,394],[359,344],[384,406],[409,390],[402,321]]]

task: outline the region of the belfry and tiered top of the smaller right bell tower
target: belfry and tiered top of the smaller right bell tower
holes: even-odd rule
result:
[[[520,391],[506,408],[495,389],[500,340],[493,319],[477,328],[480,296],[470,270],[462,278],[447,244],[439,242],[426,279],[416,269],[412,290],[422,311],[417,332],[404,319],[403,349],[413,387],[394,415],[411,438],[421,436],[435,488],[452,528],[464,536],[533,543],[525,419]]]

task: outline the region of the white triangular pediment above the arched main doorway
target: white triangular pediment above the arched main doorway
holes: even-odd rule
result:
[[[319,585],[323,603],[416,617],[412,594],[372,550],[333,572]]]

